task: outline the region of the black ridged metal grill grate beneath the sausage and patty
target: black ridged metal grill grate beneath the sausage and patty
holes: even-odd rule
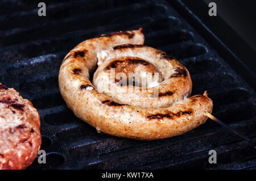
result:
[[[255,148],[213,121],[181,136],[138,141],[98,134],[68,110],[57,75],[65,54],[102,33],[143,27],[146,45],[180,60],[191,73],[192,95],[208,90],[213,115],[256,141],[255,91],[165,1],[3,1],[0,81],[38,108],[47,163],[29,169],[250,169]],[[8,14],[7,14],[8,13]],[[215,149],[217,164],[208,163]]]

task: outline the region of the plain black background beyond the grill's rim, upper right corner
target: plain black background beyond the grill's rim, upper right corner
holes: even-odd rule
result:
[[[181,0],[241,61],[256,73],[256,2],[252,0]],[[209,2],[217,16],[209,16]]]

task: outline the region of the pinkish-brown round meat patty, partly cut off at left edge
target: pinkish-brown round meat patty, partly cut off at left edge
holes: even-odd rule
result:
[[[32,103],[0,83],[0,170],[26,169],[41,145],[40,117]]]

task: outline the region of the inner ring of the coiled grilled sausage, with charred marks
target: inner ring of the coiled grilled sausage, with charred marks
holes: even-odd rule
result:
[[[94,73],[93,85],[96,86],[98,91],[105,92],[105,95],[117,102],[149,108],[170,107],[178,100],[183,100],[191,94],[192,81],[188,70],[179,61],[167,56],[161,50],[145,45],[117,45],[102,50],[98,54],[98,62],[101,66]],[[130,68],[135,68],[127,69],[126,64]],[[142,65],[146,68],[149,66],[150,69],[143,68]],[[121,69],[118,71],[122,72],[127,70],[135,72],[137,69],[139,71],[144,69],[141,74],[147,72],[158,73],[160,74],[160,81],[154,83],[154,86],[149,85],[146,91],[142,89],[126,91],[129,88],[123,85],[116,86],[117,83],[110,80],[111,68]],[[128,76],[126,75],[126,77]],[[162,79],[164,80],[162,81]],[[115,91],[109,90],[111,86],[114,86]],[[118,94],[115,92],[118,92]]]

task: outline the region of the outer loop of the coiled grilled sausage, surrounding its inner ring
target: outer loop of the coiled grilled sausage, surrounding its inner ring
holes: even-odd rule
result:
[[[207,120],[205,113],[211,113],[213,107],[212,100],[207,96],[192,96],[164,108],[131,106],[131,104],[110,99],[90,82],[89,75],[96,68],[98,53],[111,47],[121,49],[128,46],[122,44],[143,44],[143,42],[144,37],[141,31],[119,32],[86,40],[71,50],[64,58],[59,73],[60,92],[67,106],[77,117],[95,127],[97,131],[138,140],[172,137],[203,124]],[[129,46],[133,47],[133,45]],[[85,52],[81,54],[83,56],[75,57],[76,52],[81,51]],[[158,54],[159,62],[161,57],[164,60],[170,59],[171,64],[177,68],[171,72],[171,79],[190,79],[187,69],[180,62],[160,50],[155,51],[155,53],[152,51],[152,56]],[[139,55],[136,57],[141,58]],[[145,58],[142,59],[145,60]],[[167,71],[164,75],[168,75]],[[168,77],[164,78],[168,79]],[[185,85],[186,82],[183,82],[182,86],[186,87]],[[190,94],[191,87],[186,91]],[[166,95],[172,95],[174,92],[164,91],[160,94],[170,97]]]

